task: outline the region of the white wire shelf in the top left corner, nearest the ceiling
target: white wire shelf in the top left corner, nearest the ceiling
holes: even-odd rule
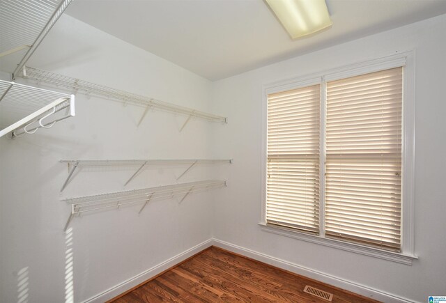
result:
[[[1,0],[0,58],[20,54],[13,79],[72,0]],[[12,69],[12,68],[11,68]],[[9,71],[8,71],[9,72]]]

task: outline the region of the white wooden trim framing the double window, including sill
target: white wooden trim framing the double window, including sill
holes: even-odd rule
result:
[[[268,233],[275,233],[277,235],[284,235],[286,237],[304,240],[307,242],[322,244],[328,247],[334,247],[345,251],[355,252],[366,256],[394,261],[411,265],[414,259],[418,257],[415,255],[415,205],[414,205],[414,185],[415,185],[415,66],[414,66],[414,52],[401,52],[391,56],[386,56],[380,59],[371,61],[364,61],[351,65],[346,65],[341,68],[332,70],[325,70],[316,74],[307,75],[305,77],[298,77],[293,79],[286,79],[277,81],[272,84],[263,86],[263,100],[262,100],[262,138],[261,138],[261,188],[262,188],[262,206],[261,206],[261,220],[259,225],[262,231]],[[403,187],[401,189],[401,196],[403,203],[401,206],[401,253],[394,251],[386,251],[375,247],[369,247],[361,244],[354,244],[351,242],[344,242],[341,240],[334,240],[325,238],[323,235],[323,221],[321,221],[320,235],[312,235],[303,233],[290,228],[282,228],[280,226],[272,226],[266,224],[266,138],[267,138],[267,104],[268,94],[278,93],[280,91],[287,91],[294,88],[310,86],[313,84],[324,84],[326,81],[334,79],[341,79],[346,77],[353,77],[369,72],[377,72],[379,70],[386,70],[390,68],[397,68],[404,66],[403,71],[403,151],[401,161],[403,164]],[[321,85],[322,87],[323,85]],[[322,88],[321,88],[322,89]],[[325,98],[321,98],[325,100]],[[324,102],[325,103],[325,102]],[[325,114],[326,104],[321,104],[321,115]],[[324,125],[321,125],[322,127]],[[323,140],[321,138],[321,140]],[[323,146],[321,146],[323,147]],[[323,148],[325,150],[325,148]],[[325,152],[324,152],[325,153]],[[323,155],[321,155],[323,156]],[[321,157],[323,159],[324,157]],[[321,168],[324,166],[322,165]],[[323,173],[323,169],[321,169]],[[323,190],[325,188],[325,180],[321,179],[321,197],[323,197]],[[321,205],[321,217],[323,215],[323,205]],[[323,218],[321,219],[323,220]]]

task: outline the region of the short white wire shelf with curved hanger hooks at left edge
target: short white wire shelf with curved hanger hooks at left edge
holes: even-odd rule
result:
[[[0,137],[10,134],[13,139],[33,134],[72,116],[74,95],[0,80]]]

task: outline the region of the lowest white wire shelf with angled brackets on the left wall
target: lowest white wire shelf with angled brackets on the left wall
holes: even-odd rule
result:
[[[209,189],[217,189],[226,186],[224,180],[204,180],[188,182],[176,185],[165,185],[159,187],[149,187],[145,189],[134,189],[125,192],[113,192],[109,194],[96,194],[93,196],[81,196],[77,198],[63,199],[71,206],[70,216],[63,231],[66,231],[74,215],[82,212],[93,212],[119,208],[124,205],[136,205],[143,203],[142,210],[150,201],[172,199],[176,196],[183,196],[180,203],[189,195],[197,192],[206,192]]]

